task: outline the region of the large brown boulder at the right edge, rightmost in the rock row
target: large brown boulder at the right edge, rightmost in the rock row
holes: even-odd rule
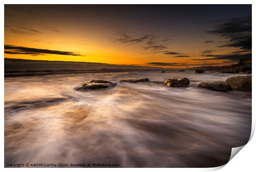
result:
[[[251,76],[235,76],[226,80],[234,90],[251,91]]]

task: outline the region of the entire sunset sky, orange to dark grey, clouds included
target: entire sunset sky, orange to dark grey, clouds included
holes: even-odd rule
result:
[[[5,5],[5,57],[235,64],[251,59],[251,5]]]

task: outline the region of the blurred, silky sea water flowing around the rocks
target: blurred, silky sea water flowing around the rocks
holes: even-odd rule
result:
[[[199,89],[238,74],[123,72],[5,78],[6,163],[216,167],[251,133],[251,92]],[[130,84],[187,77],[190,86]],[[78,92],[90,80],[111,89]]]

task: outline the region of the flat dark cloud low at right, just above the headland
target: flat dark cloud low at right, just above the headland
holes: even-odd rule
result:
[[[200,61],[204,61],[204,60],[219,60],[219,59],[223,59],[223,60],[243,60],[243,59],[251,59],[251,53],[247,53],[247,54],[240,54],[240,53],[236,53],[236,54],[220,54],[220,55],[208,54],[207,57],[213,57],[213,58],[192,59],[192,60],[200,60]]]

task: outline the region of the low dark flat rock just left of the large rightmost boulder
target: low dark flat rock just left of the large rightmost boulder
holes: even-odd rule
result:
[[[218,92],[227,92],[232,90],[228,82],[201,82],[197,87],[206,88],[209,90],[214,90]]]

